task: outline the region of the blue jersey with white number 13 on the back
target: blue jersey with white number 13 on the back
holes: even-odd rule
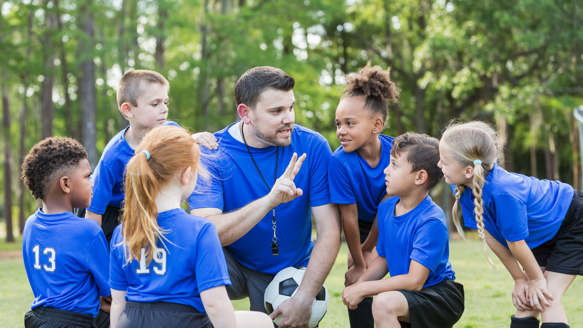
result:
[[[22,233],[24,268],[37,306],[96,316],[99,296],[111,295],[109,255],[99,224],[72,212],[39,208]]]

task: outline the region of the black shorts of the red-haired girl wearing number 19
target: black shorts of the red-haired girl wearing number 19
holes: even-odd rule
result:
[[[132,302],[117,322],[119,328],[212,328],[209,316],[192,306],[171,302]]]

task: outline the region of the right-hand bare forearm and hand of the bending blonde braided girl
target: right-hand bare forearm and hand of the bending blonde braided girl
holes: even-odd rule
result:
[[[508,243],[508,249],[510,249],[510,252],[512,252],[514,257],[522,265],[530,280],[526,301],[531,303],[531,306],[538,312],[545,312],[545,309],[540,303],[542,302],[544,305],[550,307],[550,303],[545,298],[545,295],[552,301],[554,301],[554,296],[547,289],[545,275],[540,270],[539,264],[536,262],[534,254],[532,254],[532,250],[526,245],[524,239],[518,240],[517,242],[509,242],[506,240],[506,242]]]

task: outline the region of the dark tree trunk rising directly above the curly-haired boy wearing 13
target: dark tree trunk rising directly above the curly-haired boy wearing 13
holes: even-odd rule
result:
[[[41,117],[43,121],[43,139],[52,135],[52,118],[54,117],[55,106],[52,103],[52,86],[55,81],[54,61],[55,48],[52,44],[51,37],[57,27],[57,15],[52,9],[44,5],[45,10],[45,34],[43,37],[43,55],[44,55],[44,81],[41,92]]]

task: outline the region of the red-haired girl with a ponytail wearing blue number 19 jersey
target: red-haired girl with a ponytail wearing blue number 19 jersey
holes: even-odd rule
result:
[[[208,175],[188,131],[154,128],[135,153],[111,240],[111,327],[273,327],[264,313],[233,310],[215,226],[180,207]]]

